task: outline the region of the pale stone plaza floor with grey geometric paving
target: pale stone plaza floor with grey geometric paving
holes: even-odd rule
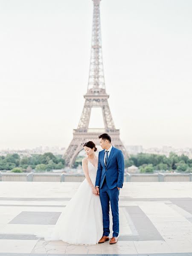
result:
[[[124,182],[117,244],[73,245],[34,236],[54,227],[79,185],[0,182],[0,256],[192,256],[191,182]]]

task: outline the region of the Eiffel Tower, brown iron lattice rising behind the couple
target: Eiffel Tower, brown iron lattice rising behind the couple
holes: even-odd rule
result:
[[[102,133],[108,133],[111,136],[111,144],[114,147],[121,149],[124,157],[127,157],[127,151],[119,138],[119,130],[115,128],[113,118],[111,116],[111,111],[108,105],[109,95],[105,91],[99,11],[100,1],[101,0],[93,0],[93,30],[90,69],[87,93],[84,95],[84,108],[79,125],[77,129],[73,130],[73,140],[64,155],[66,166],[69,167],[73,166],[77,155],[83,149],[84,143],[91,140],[98,145],[98,136]],[[91,108],[102,109],[105,128],[88,128]]]

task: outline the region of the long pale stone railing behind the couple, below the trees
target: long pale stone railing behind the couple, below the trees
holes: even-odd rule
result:
[[[50,182],[82,182],[84,174],[71,173],[3,173],[0,181],[50,181]],[[162,181],[192,181],[190,173],[126,173],[124,182],[162,182]]]

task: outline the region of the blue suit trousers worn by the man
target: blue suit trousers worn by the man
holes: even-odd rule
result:
[[[109,189],[106,178],[99,189],[99,195],[103,213],[103,236],[109,236],[109,202],[111,204],[111,212],[113,217],[113,236],[119,235],[119,189],[117,187]]]

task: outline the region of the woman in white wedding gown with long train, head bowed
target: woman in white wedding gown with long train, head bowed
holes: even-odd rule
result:
[[[62,240],[69,244],[98,244],[103,235],[102,207],[95,182],[98,158],[92,141],[84,144],[87,154],[82,160],[85,175],[76,194],[61,212],[54,229],[35,233],[45,241]]]

